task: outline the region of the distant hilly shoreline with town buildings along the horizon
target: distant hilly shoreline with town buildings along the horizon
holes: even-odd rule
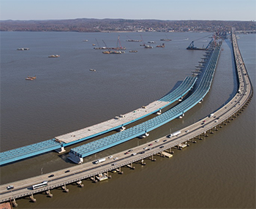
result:
[[[238,31],[256,30],[254,21],[221,20],[0,20],[0,31]]]

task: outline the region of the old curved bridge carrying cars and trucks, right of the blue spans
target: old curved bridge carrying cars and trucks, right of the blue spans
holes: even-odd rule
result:
[[[78,182],[80,180],[95,177],[104,172],[110,170],[119,169],[125,165],[132,164],[135,161],[143,161],[143,159],[149,158],[153,159],[153,156],[167,149],[173,148],[173,146],[179,145],[182,142],[193,142],[195,137],[200,137],[200,134],[206,134],[208,132],[214,132],[217,130],[217,127],[221,128],[225,123],[229,122],[233,118],[236,118],[244,108],[249,104],[253,96],[252,83],[249,79],[248,72],[244,65],[243,58],[238,48],[238,43],[236,40],[236,34],[233,30],[232,33],[232,42],[233,42],[233,53],[236,63],[236,72],[238,79],[238,88],[233,99],[230,100],[223,107],[219,107],[219,110],[214,112],[214,115],[211,117],[206,116],[200,121],[193,123],[190,126],[181,130],[181,134],[178,137],[161,137],[158,140],[151,142],[151,149],[146,151],[143,149],[145,145],[140,145],[133,148],[132,153],[137,153],[136,155],[124,155],[124,151],[116,153],[113,155],[113,158],[118,159],[113,160],[106,157],[106,160],[101,164],[93,164],[92,161],[85,164],[76,165],[74,167],[68,168],[69,172],[66,170],[58,170],[54,173],[54,177],[48,181],[48,186],[42,187],[40,189],[31,189],[31,185],[42,182],[42,180],[48,180],[48,175],[39,175],[34,178],[19,180],[13,183],[6,183],[0,186],[0,202],[7,202],[10,199],[15,200],[20,197],[29,196],[31,194],[36,194],[42,191],[49,191],[50,189],[64,186],[72,182]],[[204,121],[204,122],[203,122]],[[202,126],[202,123],[203,126]],[[187,132],[189,130],[189,132]],[[13,185],[15,189],[12,191],[7,191],[7,186]]]

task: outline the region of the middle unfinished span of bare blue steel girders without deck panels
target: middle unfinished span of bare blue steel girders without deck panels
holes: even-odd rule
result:
[[[211,58],[208,61],[200,84],[195,90],[195,92],[191,96],[189,96],[189,98],[177,104],[170,110],[167,110],[165,113],[162,113],[162,115],[158,115],[155,118],[140,123],[137,126],[133,126],[132,128],[124,130],[123,132],[118,132],[108,137],[103,137],[102,139],[96,140],[94,142],[89,142],[86,145],[81,145],[77,148],[72,148],[69,153],[69,159],[72,159],[72,161],[78,163],[82,163],[83,158],[86,156],[97,153],[99,151],[103,151],[107,148],[111,148],[122,142],[131,140],[132,138],[138,137],[153,129],[157,129],[157,127],[162,126],[163,124],[172,121],[174,118],[177,118],[178,116],[186,113],[198,102],[200,102],[203,99],[203,97],[206,96],[209,89],[211,88],[211,81],[213,80],[214,72],[217,66],[220,47],[221,43],[217,45],[217,47],[214,47],[214,50],[211,53]]]

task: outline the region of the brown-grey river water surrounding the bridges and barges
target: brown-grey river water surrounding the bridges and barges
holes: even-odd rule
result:
[[[126,53],[105,55],[93,49],[97,42],[116,47],[118,35]],[[139,33],[0,32],[0,151],[48,140],[159,99],[191,75],[203,56],[203,51],[186,50],[189,43],[198,39],[197,47],[206,46],[211,36],[141,35],[144,42],[155,41],[154,48],[125,41],[141,39]],[[155,47],[166,37],[172,41],[165,42],[164,48]],[[256,35],[240,35],[238,45],[256,86]],[[19,47],[30,50],[16,50]],[[203,103],[183,119],[150,132],[146,139],[125,142],[97,153],[97,158],[155,140],[170,129],[174,132],[225,104],[235,94],[237,83],[230,40],[225,40],[222,49],[211,91]],[[51,54],[60,57],[48,58]],[[36,80],[25,80],[35,75]],[[112,179],[102,183],[83,180],[83,189],[69,185],[68,194],[54,189],[53,198],[37,194],[37,203],[18,199],[18,207],[256,208],[255,105],[253,97],[238,118],[189,148],[175,151],[171,159],[156,157],[155,162],[146,161],[146,166],[135,164],[135,170],[124,168],[124,175],[113,173]],[[50,152],[0,167],[0,183],[73,165],[66,154]]]

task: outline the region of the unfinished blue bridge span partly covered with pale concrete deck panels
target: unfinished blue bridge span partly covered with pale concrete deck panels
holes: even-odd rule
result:
[[[125,126],[129,123],[138,121],[139,119],[153,113],[157,113],[157,111],[161,110],[167,105],[172,104],[173,102],[176,102],[182,96],[187,94],[187,92],[194,86],[196,80],[197,77],[188,76],[184,79],[181,85],[178,86],[178,88],[163,96],[161,99],[151,102],[150,104],[130,113],[119,115],[118,118],[113,118],[75,132],[63,134],[59,137],[55,137],[54,139],[38,142],[32,145],[26,145],[21,148],[12,149],[10,151],[1,152],[0,165],[61,149],[61,147],[67,147],[69,145],[88,140],[92,137],[96,137],[100,134],[118,129],[121,126]]]

